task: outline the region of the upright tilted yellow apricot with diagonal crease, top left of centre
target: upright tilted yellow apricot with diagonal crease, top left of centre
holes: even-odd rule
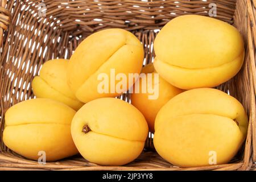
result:
[[[128,78],[129,73],[141,72],[143,57],[141,42],[130,32],[119,28],[96,32],[83,40],[71,56],[68,84],[82,102],[119,96],[121,93],[110,93],[110,86],[109,93],[99,93],[97,86],[102,80],[98,75],[106,73],[110,82],[110,69],[115,69],[115,75],[123,73]]]

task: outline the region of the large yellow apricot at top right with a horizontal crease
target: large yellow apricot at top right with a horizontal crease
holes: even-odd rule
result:
[[[200,15],[172,19],[154,42],[156,71],[181,89],[214,87],[241,69],[245,50],[240,32]]]

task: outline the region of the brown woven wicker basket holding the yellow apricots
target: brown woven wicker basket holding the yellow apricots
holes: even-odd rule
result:
[[[40,3],[46,16],[39,16]],[[218,89],[236,97],[249,116],[247,139],[229,163],[178,168],[154,151],[149,137],[145,150],[134,162],[122,167],[104,167],[81,156],[45,165],[24,159],[2,141],[5,111],[17,102],[34,98],[32,78],[40,65],[53,58],[69,58],[86,36],[104,28],[125,28],[144,45],[145,63],[154,59],[152,43],[172,18],[184,14],[208,16],[209,3],[217,5],[217,19],[233,24],[245,40],[246,57],[241,71]],[[0,0],[0,170],[249,170],[256,169],[255,123],[255,0]],[[196,26],[196,25],[195,25]],[[123,94],[123,100],[129,95]]]

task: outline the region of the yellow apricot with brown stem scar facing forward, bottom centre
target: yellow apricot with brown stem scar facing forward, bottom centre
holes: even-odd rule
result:
[[[84,126],[90,131],[84,133]],[[71,125],[72,138],[89,162],[121,166],[136,159],[144,148],[148,127],[133,105],[117,98],[98,98],[77,111]]]

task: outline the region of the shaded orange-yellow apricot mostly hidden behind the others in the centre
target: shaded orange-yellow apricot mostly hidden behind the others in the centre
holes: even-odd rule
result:
[[[144,67],[143,67],[144,68]],[[154,71],[154,67],[151,67],[149,65],[148,67],[145,67],[146,70],[143,70],[143,72]],[[150,68],[150,69],[149,69]],[[147,81],[143,82],[142,79],[144,77],[148,77],[148,73],[146,75],[143,75],[142,78],[137,80],[139,83],[139,88],[141,90],[142,87],[146,86],[146,88],[149,86],[147,85]],[[152,73],[152,72],[151,72]],[[150,88],[155,90],[155,87],[158,86],[159,88],[159,95],[156,100],[150,100],[149,96],[152,96],[152,93],[132,93],[131,94],[131,104],[134,105],[146,118],[146,121],[148,123],[149,130],[154,133],[154,125],[155,125],[155,117],[156,114],[158,114],[158,111],[161,109],[161,107],[166,104],[172,97],[176,96],[177,94],[183,92],[183,90],[176,88],[175,86],[172,86],[169,84],[166,80],[164,80],[162,77],[159,76],[158,82],[155,82],[154,74],[156,72],[152,73],[152,85],[150,85]],[[157,73],[156,73],[157,74]],[[137,84],[137,83],[135,83]],[[150,89],[147,89],[147,91]]]

